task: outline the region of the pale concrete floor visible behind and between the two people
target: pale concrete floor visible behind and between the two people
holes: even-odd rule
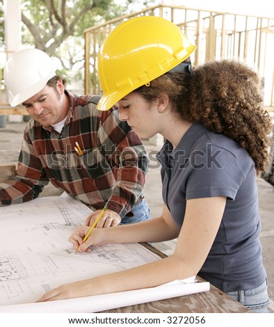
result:
[[[22,143],[22,134],[25,122],[7,122],[6,127],[0,128],[0,165],[16,163]],[[145,141],[150,154],[150,170],[145,186],[147,199],[152,216],[161,214],[161,178],[160,166],[155,160],[156,152],[161,145],[152,145]],[[268,294],[271,298],[270,312],[274,312],[274,187],[261,178],[257,179],[259,189],[259,212],[261,215],[262,230],[261,244],[263,246],[264,265],[268,273]],[[44,196],[57,195],[57,190],[49,185],[43,191]],[[175,247],[175,240],[153,244],[163,253],[170,255]]]

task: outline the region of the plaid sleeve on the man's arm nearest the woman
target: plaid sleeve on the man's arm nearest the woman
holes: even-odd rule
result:
[[[123,218],[143,192],[148,167],[147,150],[127,122],[118,119],[118,110],[106,111],[102,115],[98,136],[101,147],[108,150],[106,157],[116,179],[106,205]]]

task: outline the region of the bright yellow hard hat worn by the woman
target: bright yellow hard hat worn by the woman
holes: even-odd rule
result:
[[[196,46],[172,22],[142,16],[118,25],[104,40],[97,58],[106,111],[136,88],[165,74],[188,58]]]

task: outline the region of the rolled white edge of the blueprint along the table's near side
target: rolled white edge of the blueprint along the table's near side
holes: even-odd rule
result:
[[[195,276],[185,280],[174,280],[146,289],[116,292],[59,301],[4,305],[0,312],[17,313],[88,313],[123,308],[129,305],[159,301],[166,298],[209,291],[209,282],[195,282]]]

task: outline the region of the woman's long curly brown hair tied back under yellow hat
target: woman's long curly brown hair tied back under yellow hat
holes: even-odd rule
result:
[[[136,92],[148,102],[167,93],[175,115],[233,138],[248,151],[259,173],[266,169],[272,129],[261,88],[259,75],[248,65],[221,60],[200,65],[193,75],[168,72]]]

